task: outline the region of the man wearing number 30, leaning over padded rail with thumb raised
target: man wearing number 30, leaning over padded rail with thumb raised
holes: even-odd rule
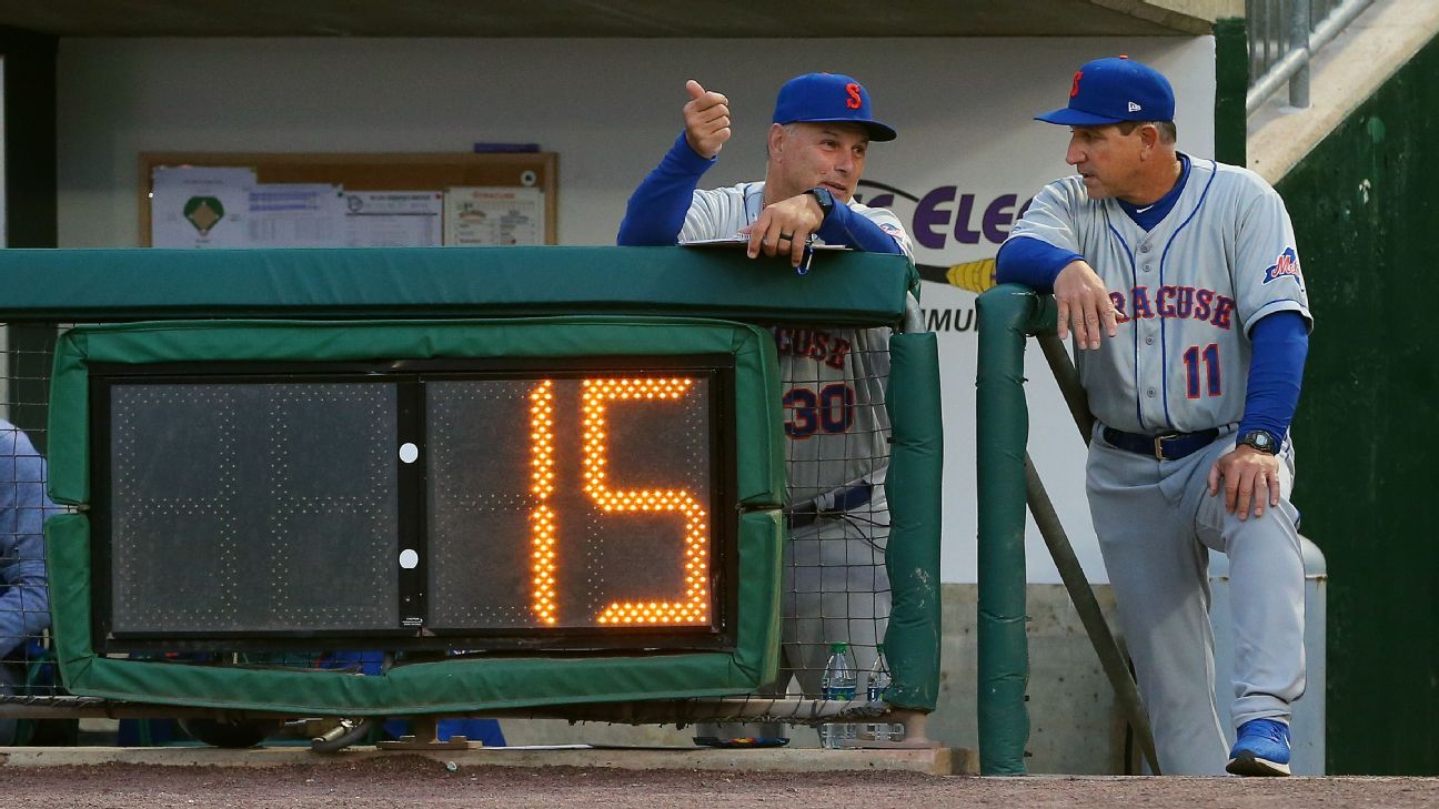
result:
[[[738,236],[748,240],[750,258],[787,258],[771,262],[780,272],[803,266],[812,239],[912,261],[895,214],[853,199],[871,141],[895,138],[856,79],[806,73],[787,81],[766,132],[764,180],[721,189],[698,184],[730,140],[730,99],[695,81],[686,92],[685,131],[630,196],[620,245]],[[787,665],[804,692],[817,695],[829,643],[850,643],[859,669],[868,669],[889,616],[889,330],[773,331],[789,476],[781,635]]]

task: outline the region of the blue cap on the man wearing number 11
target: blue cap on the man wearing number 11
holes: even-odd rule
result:
[[[1035,115],[1066,127],[1120,121],[1173,121],[1174,88],[1163,73],[1128,56],[1086,62],[1069,86],[1069,107]]]

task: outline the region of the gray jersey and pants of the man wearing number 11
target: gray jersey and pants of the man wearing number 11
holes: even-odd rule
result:
[[[1111,446],[1095,426],[1086,494],[1120,625],[1166,774],[1225,772],[1213,691],[1206,546],[1230,557],[1235,727],[1288,721],[1304,692],[1304,563],[1289,502],[1292,443],[1279,451],[1281,500],[1239,520],[1210,497],[1209,469],[1235,446],[1259,318],[1309,318],[1294,229],[1279,196],[1252,171],[1190,158],[1170,213],[1145,232],[1115,200],[1091,200],[1079,177],[1046,186],[1013,227],[1073,250],[1099,274],[1118,335],[1078,351],[1089,407],[1127,432],[1222,438],[1177,461]]]

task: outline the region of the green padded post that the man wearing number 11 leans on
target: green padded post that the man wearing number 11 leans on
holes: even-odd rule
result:
[[[980,773],[1025,774],[1025,343],[1053,330],[1053,298],[1004,284],[979,297],[979,737]]]

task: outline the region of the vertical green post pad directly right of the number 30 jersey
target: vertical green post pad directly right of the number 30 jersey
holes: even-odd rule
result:
[[[932,333],[896,334],[889,341],[885,402],[894,429],[885,497],[889,546],[885,570],[894,605],[885,656],[894,684],[885,700],[932,711],[940,697],[940,478],[944,430],[940,356]]]

